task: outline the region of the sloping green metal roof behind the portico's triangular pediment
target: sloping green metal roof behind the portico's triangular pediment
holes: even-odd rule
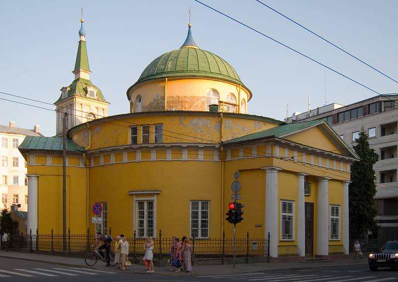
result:
[[[288,123],[288,124],[282,124],[270,129],[266,129],[260,132],[255,132],[252,134],[248,134],[245,136],[241,136],[235,139],[228,140],[224,142],[223,144],[231,144],[231,143],[237,143],[237,142],[242,142],[242,141],[252,141],[256,139],[262,139],[262,138],[267,138],[267,137],[283,137],[286,135],[293,134],[295,132],[301,131],[303,129],[324,123],[324,119],[315,119],[311,121],[304,121],[304,122],[294,122],[294,123]]]

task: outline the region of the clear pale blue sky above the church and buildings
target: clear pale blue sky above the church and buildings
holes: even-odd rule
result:
[[[380,93],[398,84],[322,42],[254,0],[203,0]],[[398,80],[396,0],[264,0],[280,12]],[[193,0],[0,1],[0,92],[53,103],[73,81],[80,9],[84,8],[91,80],[126,113],[126,90],[159,55],[193,35],[201,49],[229,62],[253,92],[248,113],[283,119],[325,103],[349,104],[376,94],[357,86]],[[27,100],[10,98],[54,109]],[[0,124],[55,134],[55,113],[0,100]]]

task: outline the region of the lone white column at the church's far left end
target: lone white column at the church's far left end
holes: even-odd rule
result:
[[[38,184],[39,175],[27,174],[28,177],[28,222],[27,233],[32,229],[32,234],[36,234],[37,229],[37,199],[38,199]]]

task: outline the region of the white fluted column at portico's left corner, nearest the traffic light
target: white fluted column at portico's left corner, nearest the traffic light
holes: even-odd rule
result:
[[[270,232],[270,256],[278,257],[278,171],[280,168],[261,168],[265,170],[265,234],[268,238]]]

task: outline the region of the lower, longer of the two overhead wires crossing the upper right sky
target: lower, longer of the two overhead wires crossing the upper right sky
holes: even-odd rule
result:
[[[297,54],[299,54],[299,55],[311,60],[312,62],[314,62],[314,63],[316,63],[318,65],[321,65],[322,67],[325,67],[326,69],[328,69],[328,70],[330,70],[330,71],[332,71],[332,72],[334,72],[334,73],[336,73],[336,74],[338,74],[338,75],[340,75],[340,76],[342,76],[342,77],[344,77],[344,78],[346,78],[346,79],[348,79],[348,80],[350,80],[350,81],[352,81],[352,82],[354,82],[354,83],[366,88],[367,90],[372,91],[372,92],[374,92],[374,93],[376,93],[376,94],[378,94],[380,96],[383,96],[383,97],[393,101],[394,103],[398,104],[398,102],[396,102],[395,100],[391,99],[390,97],[388,97],[388,96],[386,96],[384,94],[381,94],[381,93],[377,92],[376,90],[371,89],[370,87],[367,87],[366,85],[364,85],[364,84],[362,84],[362,83],[360,83],[360,82],[358,82],[358,81],[356,81],[356,80],[354,80],[354,79],[352,79],[352,78],[350,78],[350,77],[348,77],[348,76],[346,76],[346,75],[344,75],[344,74],[332,69],[331,67],[326,66],[325,64],[323,64],[323,63],[321,63],[321,62],[319,62],[319,61],[317,61],[315,59],[312,59],[311,57],[309,57],[309,56],[297,51],[296,49],[294,49],[294,48],[282,43],[281,41],[278,41],[278,40],[272,38],[271,36],[268,36],[267,34],[255,29],[255,28],[253,28],[253,27],[251,27],[251,26],[249,26],[249,25],[247,25],[247,24],[245,24],[245,23],[243,23],[243,22],[241,22],[241,21],[239,21],[239,20],[237,20],[237,19],[235,19],[235,18],[233,18],[233,17],[231,17],[231,16],[229,16],[229,15],[227,15],[227,14],[225,14],[225,13],[223,13],[223,12],[221,12],[221,11],[219,11],[219,10],[217,10],[217,9],[207,5],[207,4],[205,4],[205,3],[203,3],[203,2],[200,2],[199,0],[194,0],[194,1],[198,2],[199,4],[201,4],[203,6],[206,6],[207,8],[209,8],[209,9],[211,9],[211,10],[213,10],[213,11],[215,11],[215,12],[217,12],[217,13],[219,13],[219,14],[221,14],[221,15],[223,15],[223,16],[225,16],[225,17],[227,17],[227,18],[229,18],[229,19],[231,19],[231,20],[233,20],[233,21],[235,21],[235,22],[237,22],[237,23],[249,28],[249,29],[251,29],[251,30],[253,30],[254,32],[257,32],[257,33],[267,37],[268,39],[271,39],[272,41],[274,41],[274,42],[276,42],[276,43],[288,48],[289,50],[291,50],[291,51],[293,51],[293,52],[295,52],[295,53],[297,53]]]

